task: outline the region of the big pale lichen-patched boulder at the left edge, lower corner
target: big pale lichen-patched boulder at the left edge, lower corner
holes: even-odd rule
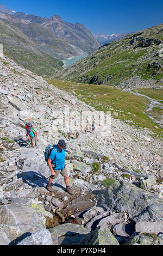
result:
[[[34,204],[30,199],[16,198],[11,204],[0,205],[0,214],[0,224],[12,227],[8,229],[10,240],[23,233],[46,228],[47,222],[53,222],[53,215],[45,211],[43,204]],[[6,227],[2,230],[6,230]]]

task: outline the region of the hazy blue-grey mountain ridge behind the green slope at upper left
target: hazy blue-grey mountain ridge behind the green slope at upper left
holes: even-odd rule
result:
[[[48,31],[51,31],[53,33],[53,36],[58,35],[60,40],[64,41],[66,44],[71,44],[80,48],[85,53],[91,53],[97,50],[101,46],[101,44],[96,39],[96,37],[84,25],[80,23],[73,24],[70,22],[63,21],[59,15],[54,15],[54,16],[51,16],[50,18],[47,18],[47,17],[42,18],[41,16],[35,16],[33,14],[24,14],[23,12],[16,13],[15,11],[12,11],[9,8],[5,7],[5,5],[3,4],[0,5],[0,11],[2,13],[9,14],[13,18],[12,19],[13,22],[14,22],[14,18],[20,19],[17,22],[18,25],[16,22],[14,22],[14,25],[21,27],[21,29],[22,29],[22,26],[20,23],[24,24],[24,21],[27,21],[26,23],[27,26],[29,23],[35,23],[43,27],[44,32],[45,32],[45,29],[47,29]],[[0,19],[5,19],[5,18],[4,16],[3,17],[1,16]],[[40,28],[40,31],[41,31],[41,28]],[[24,33],[23,29],[22,29],[22,32]],[[34,31],[30,33],[30,37],[32,37],[33,33]],[[37,34],[37,39],[39,39],[38,34]],[[72,46],[69,46],[69,47],[71,49],[67,51],[68,53],[67,58],[71,56],[79,55],[80,51],[77,52],[76,50],[72,49]],[[45,49],[45,51],[47,52],[48,50]],[[51,55],[51,51],[49,51],[48,54]],[[52,54],[52,56],[53,55],[54,54]],[[62,55],[58,56],[58,58],[63,59]]]

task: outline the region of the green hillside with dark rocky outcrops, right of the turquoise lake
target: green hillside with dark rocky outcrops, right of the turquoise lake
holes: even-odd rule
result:
[[[98,51],[70,66],[55,77],[89,84],[120,86],[131,77],[163,81],[163,24],[125,36],[99,48]],[[163,46],[162,46],[163,47]]]

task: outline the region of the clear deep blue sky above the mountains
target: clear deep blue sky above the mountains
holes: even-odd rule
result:
[[[41,17],[58,14],[64,21],[82,23],[93,34],[137,32],[163,23],[162,0],[4,0],[1,3],[12,10]]]

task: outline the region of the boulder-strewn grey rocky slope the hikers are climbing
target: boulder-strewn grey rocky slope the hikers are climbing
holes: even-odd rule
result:
[[[0,58],[0,245],[163,245],[162,141],[111,119],[111,134],[67,139],[56,113],[95,111],[11,59]],[[33,123],[37,147],[27,143]],[[53,127],[57,127],[55,131]],[[65,139],[71,196],[44,151]]]

